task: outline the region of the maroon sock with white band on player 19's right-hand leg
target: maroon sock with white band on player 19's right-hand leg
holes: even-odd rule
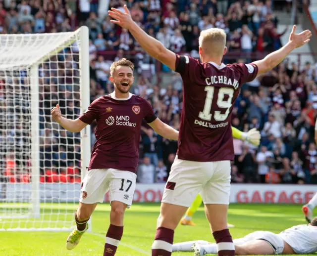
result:
[[[223,229],[212,233],[217,243],[218,256],[234,256],[234,244],[229,229]]]

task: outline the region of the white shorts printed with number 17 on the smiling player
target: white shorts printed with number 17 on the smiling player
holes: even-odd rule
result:
[[[84,204],[102,203],[109,191],[110,203],[122,202],[130,208],[136,186],[137,175],[131,171],[116,169],[89,170],[82,182],[80,202]]]

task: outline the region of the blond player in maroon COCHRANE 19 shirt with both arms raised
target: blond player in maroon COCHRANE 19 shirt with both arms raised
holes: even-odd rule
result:
[[[226,34],[208,29],[199,37],[199,55],[177,55],[144,32],[132,19],[126,5],[124,12],[111,8],[112,23],[130,31],[149,55],[182,76],[183,109],[179,128],[178,153],[171,168],[160,208],[152,256],[170,256],[174,230],[198,193],[205,203],[219,256],[235,255],[227,228],[230,194],[230,161],[234,159],[231,110],[243,84],[265,73],[295,48],[310,41],[306,30],[263,60],[251,64],[225,65]]]

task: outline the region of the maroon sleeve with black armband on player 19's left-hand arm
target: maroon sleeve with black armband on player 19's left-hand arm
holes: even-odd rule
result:
[[[198,59],[176,54],[175,71],[182,76],[183,81],[193,81],[200,75],[200,67],[201,63]]]

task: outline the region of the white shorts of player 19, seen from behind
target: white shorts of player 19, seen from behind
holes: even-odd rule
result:
[[[190,207],[200,193],[205,204],[228,205],[230,179],[230,161],[193,162],[176,156],[162,203]]]

